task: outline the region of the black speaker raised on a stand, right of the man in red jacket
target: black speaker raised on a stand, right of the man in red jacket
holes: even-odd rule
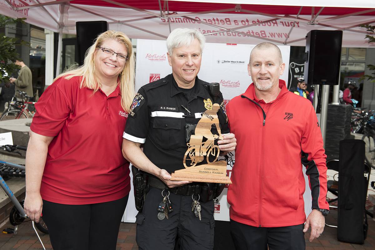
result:
[[[311,30],[306,36],[305,82],[338,85],[341,30]]]

